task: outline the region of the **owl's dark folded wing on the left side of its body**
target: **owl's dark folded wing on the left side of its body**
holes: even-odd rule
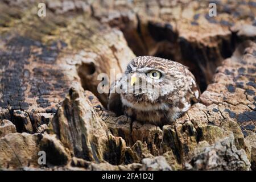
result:
[[[123,110],[121,97],[120,94],[116,92],[116,88],[118,88],[118,86],[120,86],[120,80],[114,81],[110,86],[108,109],[117,115],[122,115]]]

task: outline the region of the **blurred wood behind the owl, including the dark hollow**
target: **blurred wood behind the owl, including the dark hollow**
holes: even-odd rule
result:
[[[156,55],[187,65],[205,90],[221,61],[255,32],[253,1],[94,1],[93,15],[123,31],[136,55]],[[239,27],[239,28],[238,28]],[[248,35],[248,34],[247,34]],[[251,33],[250,39],[255,39]]]

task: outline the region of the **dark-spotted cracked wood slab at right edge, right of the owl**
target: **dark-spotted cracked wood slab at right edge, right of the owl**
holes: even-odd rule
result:
[[[213,84],[200,97],[204,105],[218,104],[213,112],[238,122],[244,135],[247,135],[246,130],[256,131],[255,46],[255,43],[245,42],[238,47],[233,56],[217,68]]]

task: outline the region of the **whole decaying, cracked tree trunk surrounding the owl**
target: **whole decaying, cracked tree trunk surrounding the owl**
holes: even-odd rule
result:
[[[0,169],[256,169],[254,3],[37,3],[0,2]],[[200,103],[163,127],[106,110],[98,74],[135,55],[188,65]]]

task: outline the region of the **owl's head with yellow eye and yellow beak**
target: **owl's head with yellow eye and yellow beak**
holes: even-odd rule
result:
[[[127,65],[119,84],[126,97],[137,102],[156,102],[159,98],[184,88],[187,84],[187,72],[187,67],[175,61],[140,56]]]

